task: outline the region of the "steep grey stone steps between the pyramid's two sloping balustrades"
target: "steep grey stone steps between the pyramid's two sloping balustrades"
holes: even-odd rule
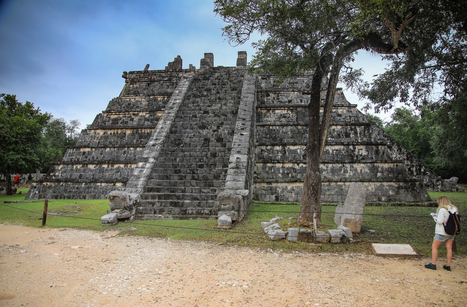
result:
[[[245,71],[199,70],[136,208],[135,219],[211,219],[224,190]]]

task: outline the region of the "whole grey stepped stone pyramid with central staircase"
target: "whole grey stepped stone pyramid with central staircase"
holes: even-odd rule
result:
[[[248,75],[246,59],[239,52],[237,66],[216,67],[206,53],[199,69],[183,69],[177,56],[163,70],[123,72],[120,96],[26,198],[109,198],[139,219],[227,212],[235,220],[252,199],[299,201],[311,75],[277,84],[271,75]],[[342,89],[321,172],[325,202],[343,202],[352,182],[368,185],[368,201],[426,201],[427,190],[443,189]]]

